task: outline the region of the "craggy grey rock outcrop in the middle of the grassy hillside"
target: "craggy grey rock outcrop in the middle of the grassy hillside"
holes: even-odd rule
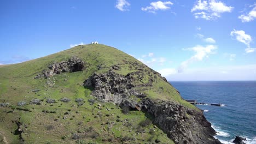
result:
[[[135,85],[132,84],[131,75],[122,76],[114,73],[113,70],[100,75],[94,73],[84,81],[84,86],[93,87],[94,91],[91,95],[110,103],[120,104],[123,99],[131,95],[142,95],[133,89]]]

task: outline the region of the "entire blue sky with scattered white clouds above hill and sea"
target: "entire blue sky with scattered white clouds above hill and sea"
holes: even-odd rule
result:
[[[256,80],[256,1],[1,1],[0,64],[98,41],[170,81]]]

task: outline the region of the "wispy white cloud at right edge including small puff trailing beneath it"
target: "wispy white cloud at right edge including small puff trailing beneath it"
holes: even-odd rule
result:
[[[251,53],[256,51],[256,48],[251,48],[250,44],[252,42],[252,37],[249,34],[246,34],[245,31],[236,31],[234,29],[233,31],[230,32],[230,35],[232,37],[236,37],[237,41],[240,41],[241,43],[245,44],[247,48],[245,49],[246,53]]]

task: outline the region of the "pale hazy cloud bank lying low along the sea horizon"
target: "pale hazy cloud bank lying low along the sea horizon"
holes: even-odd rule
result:
[[[238,81],[256,80],[256,65],[224,65],[188,68],[183,73],[167,75],[168,81]]]

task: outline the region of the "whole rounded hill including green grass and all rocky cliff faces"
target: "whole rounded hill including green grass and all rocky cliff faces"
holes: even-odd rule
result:
[[[201,110],[118,49],[0,67],[0,143],[219,143]]]

